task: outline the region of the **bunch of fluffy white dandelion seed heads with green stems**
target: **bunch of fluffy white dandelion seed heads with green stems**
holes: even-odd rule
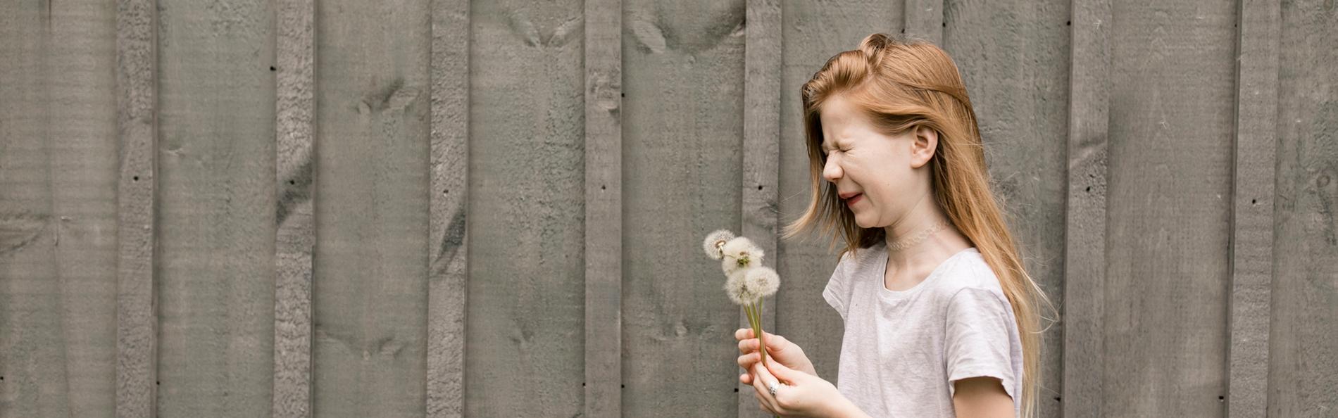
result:
[[[706,235],[701,244],[706,256],[720,260],[720,268],[725,272],[725,294],[729,300],[743,306],[748,315],[748,323],[757,335],[761,363],[767,365],[767,341],[761,331],[763,298],[776,294],[780,288],[780,275],[769,267],[761,266],[763,251],[752,240],[735,236],[728,230],[719,230]]]

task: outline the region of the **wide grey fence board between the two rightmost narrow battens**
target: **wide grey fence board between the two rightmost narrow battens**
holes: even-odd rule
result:
[[[1235,4],[1115,3],[1105,415],[1220,415]]]

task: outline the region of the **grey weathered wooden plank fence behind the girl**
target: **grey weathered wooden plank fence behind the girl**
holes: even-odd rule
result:
[[[700,255],[835,379],[799,87],[957,60],[1044,417],[1338,414],[1333,1],[8,0],[0,415],[757,417]]]

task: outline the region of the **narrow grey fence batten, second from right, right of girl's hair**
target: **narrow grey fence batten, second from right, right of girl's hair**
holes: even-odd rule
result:
[[[1104,414],[1111,0],[1073,0],[1064,222],[1064,417]]]

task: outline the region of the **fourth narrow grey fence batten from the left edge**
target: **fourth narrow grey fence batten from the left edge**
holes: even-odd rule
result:
[[[585,1],[585,411],[622,417],[622,1]]]

